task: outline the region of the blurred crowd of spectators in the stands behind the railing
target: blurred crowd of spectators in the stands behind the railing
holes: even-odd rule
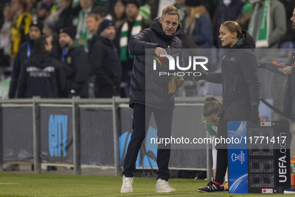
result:
[[[293,47],[294,0],[1,0],[9,98],[128,97],[128,42],[167,5],[180,10],[184,48],[222,48],[219,27],[227,20],[248,30],[257,48]]]

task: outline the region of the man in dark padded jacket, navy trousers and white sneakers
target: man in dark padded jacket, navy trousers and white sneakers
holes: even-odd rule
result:
[[[145,57],[149,55],[146,55],[145,49],[153,50],[153,53],[157,55],[169,53],[172,56],[181,56],[179,48],[182,48],[182,43],[176,37],[179,30],[179,10],[174,6],[167,6],[163,9],[162,16],[152,21],[150,28],[140,31],[128,44],[130,53],[136,55],[129,95],[129,106],[134,109],[133,133],[125,155],[121,192],[133,191],[132,172],[135,170],[137,155],[145,138],[152,113],[157,124],[158,137],[171,136],[174,94],[168,93],[168,83],[173,76],[159,76],[159,70],[152,71],[150,69],[152,65],[146,65],[148,62],[145,61]],[[164,48],[168,48],[167,51]],[[176,49],[179,53],[170,53],[170,48]],[[164,67],[168,69],[164,65],[160,66],[159,69]],[[180,87],[182,84],[183,78],[180,78],[176,81],[175,86]],[[168,145],[164,149],[164,146],[158,144],[156,192],[175,191],[167,181],[169,178],[169,158],[170,146]]]

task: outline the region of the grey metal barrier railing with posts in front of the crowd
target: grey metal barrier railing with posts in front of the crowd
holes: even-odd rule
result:
[[[175,97],[176,105],[190,105],[196,103],[204,103],[204,97]],[[217,99],[222,100],[221,97]],[[117,109],[119,104],[128,104],[129,98],[112,97],[112,98],[80,98],[73,96],[72,98],[40,98],[34,96],[32,98],[22,99],[0,99],[0,139],[2,139],[2,108],[3,107],[17,107],[17,106],[32,106],[33,109],[33,163],[34,173],[41,173],[41,162],[39,157],[40,150],[40,127],[39,127],[39,107],[44,104],[52,106],[71,106],[72,107],[72,132],[73,132],[73,164],[74,174],[81,174],[80,165],[80,144],[79,144],[79,106],[86,104],[108,104],[112,105],[113,116],[113,135],[114,135],[114,161],[115,161],[115,175],[120,175],[120,155],[119,155],[119,141],[118,141],[118,114]],[[3,139],[2,139],[3,140]],[[0,140],[0,172],[2,168],[2,140]],[[209,144],[207,145],[209,149]],[[207,161],[209,161],[209,151],[207,150]],[[207,162],[207,173],[210,170]]]

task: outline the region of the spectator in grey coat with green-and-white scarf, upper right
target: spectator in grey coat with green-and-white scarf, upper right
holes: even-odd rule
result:
[[[253,0],[254,11],[248,31],[257,48],[278,48],[282,35],[287,32],[286,9],[279,0]],[[265,8],[265,7],[268,7]],[[267,17],[262,17],[267,15]],[[263,20],[270,19],[270,22]],[[262,23],[266,25],[261,25]]]

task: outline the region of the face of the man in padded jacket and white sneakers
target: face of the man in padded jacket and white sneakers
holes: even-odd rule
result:
[[[176,31],[179,18],[177,14],[165,14],[163,18],[160,17],[159,21],[162,25],[164,33],[166,35],[172,35]]]

